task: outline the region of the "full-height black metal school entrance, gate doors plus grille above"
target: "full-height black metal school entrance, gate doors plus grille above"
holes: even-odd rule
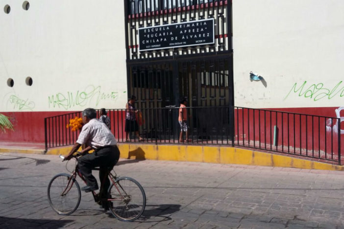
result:
[[[231,1],[124,0],[124,6],[128,95],[137,97],[137,107],[143,111],[146,124],[140,131],[155,137],[152,133],[158,135],[161,130],[175,137],[179,133],[178,111],[172,107],[179,107],[181,97],[187,97],[188,106],[193,108],[228,108],[219,109],[221,114],[214,113],[214,109],[201,109],[196,115],[190,110],[189,121],[197,134],[211,135],[214,126],[226,131],[233,128]],[[205,21],[212,23],[200,26]],[[145,48],[146,43],[158,47],[164,38],[171,41],[169,33],[164,35],[166,26],[171,30],[185,26],[178,33],[189,38],[208,35],[201,32],[205,29],[214,39],[205,44],[198,44],[198,39],[188,46],[170,43],[171,46]],[[140,32],[144,32],[142,37]],[[156,122],[157,118],[161,121]]]

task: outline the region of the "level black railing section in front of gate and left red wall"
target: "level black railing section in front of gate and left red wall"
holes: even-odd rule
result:
[[[136,120],[140,138],[149,143],[181,143],[178,113],[179,108],[176,107],[140,109]],[[186,113],[188,117],[188,143],[231,144],[233,131],[230,130],[228,107],[185,108],[181,113]],[[111,131],[118,142],[139,142],[139,137],[130,126],[134,124],[127,123],[128,131],[125,131],[126,109],[111,109],[107,115],[111,120]],[[74,144],[80,130],[72,131],[67,125],[75,116],[81,117],[81,112],[45,118],[46,149]]]

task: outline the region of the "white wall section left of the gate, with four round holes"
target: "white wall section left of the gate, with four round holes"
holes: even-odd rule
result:
[[[27,11],[23,2],[0,0],[0,111],[123,108],[123,1],[29,0]]]

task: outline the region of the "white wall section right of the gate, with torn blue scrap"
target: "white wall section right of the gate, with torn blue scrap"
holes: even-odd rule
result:
[[[343,106],[343,9],[343,0],[233,0],[235,105]]]

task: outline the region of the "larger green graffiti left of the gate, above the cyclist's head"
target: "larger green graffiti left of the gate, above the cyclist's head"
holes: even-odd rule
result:
[[[86,106],[99,104],[100,100],[111,99],[116,100],[118,97],[118,92],[104,93],[100,91],[100,86],[89,85],[83,91],[76,92],[58,92],[56,94],[48,96],[48,103],[50,107],[58,107],[69,109],[75,106]]]

